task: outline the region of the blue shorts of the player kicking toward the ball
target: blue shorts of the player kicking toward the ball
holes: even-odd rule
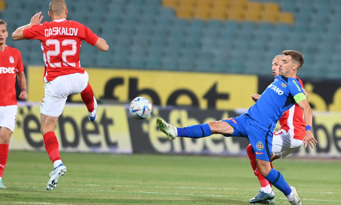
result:
[[[239,136],[247,137],[255,150],[256,158],[270,162],[272,150],[272,132],[275,129],[276,123],[269,127],[258,123],[247,114],[243,114],[236,118],[228,118],[222,120],[230,124],[234,131],[227,137]]]

